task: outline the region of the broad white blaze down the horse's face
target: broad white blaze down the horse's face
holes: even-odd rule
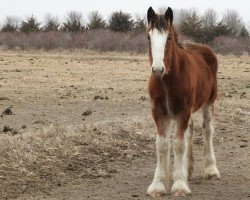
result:
[[[153,57],[153,65],[154,70],[162,70],[164,67],[164,52],[165,46],[168,38],[168,33],[165,31],[159,31],[157,29],[153,29],[149,32],[150,41],[151,41],[151,52]]]

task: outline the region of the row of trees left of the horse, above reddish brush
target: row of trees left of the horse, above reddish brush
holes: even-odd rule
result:
[[[136,20],[132,15],[123,11],[113,12],[108,19],[104,20],[98,11],[90,12],[88,23],[84,23],[81,12],[70,11],[67,13],[65,20],[61,23],[57,16],[47,14],[44,18],[44,25],[38,19],[31,15],[24,20],[19,20],[14,16],[7,16],[1,31],[3,32],[39,32],[39,31],[65,31],[65,32],[84,32],[93,29],[110,29],[115,32],[145,31],[145,18],[137,17]]]

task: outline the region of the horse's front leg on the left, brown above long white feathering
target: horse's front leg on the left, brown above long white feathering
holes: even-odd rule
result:
[[[167,117],[166,110],[161,104],[152,106],[152,114],[157,128],[156,151],[157,166],[155,169],[154,179],[148,187],[147,193],[156,197],[165,194],[169,184],[169,127],[170,119]]]

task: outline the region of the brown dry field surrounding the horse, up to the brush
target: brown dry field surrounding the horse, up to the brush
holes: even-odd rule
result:
[[[192,195],[184,199],[250,198],[250,57],[218,58],[221,179],[202,178],[197,113]],[[150,72],[146,55],[0,51],[0,199],[151,199]]]

